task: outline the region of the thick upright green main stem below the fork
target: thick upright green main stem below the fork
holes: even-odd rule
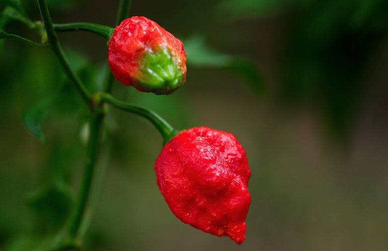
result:
[[[66,229],[68,230],[72,238],[78,237],[78,232],[81,226],[82,219],[85,214],[86,205],[89,198],[89,192],[92,184],[92,178],[94,174],[96,159],[99,149],[99,138],[100,130],[102,126],[102,121],[104,114],[94,113],[90,120],[90,135],[87,148],[87,157],[85,160],[84,173],[81,180],[81,185],[79,188],[79,194],[76,201],[76,206],[69,217],[68,225]]]

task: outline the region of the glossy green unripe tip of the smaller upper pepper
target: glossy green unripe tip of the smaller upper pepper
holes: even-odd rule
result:
[[[156,52],[145,53],[140,63],[141,73],[136,88],[156,95],[171,94],[185,81],[184,72],[174,62],[171,52],[164,47]]]

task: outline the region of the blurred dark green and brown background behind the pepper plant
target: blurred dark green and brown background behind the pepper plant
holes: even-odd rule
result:
[[[108,26],[118,6],[48,3],[54,22]],[[22,4],[40,19],[36,1]],[[169,96],[115,83],[113,95],[176,128],[237,136],[252,170],[246,241],[237,246],[175,218],[153,170],[162,137],[143,118],[110,109],[96,177],[104,185],[85,250],[388,250],[387,1],[133,0],[130,15],[184,41],[187,82]],[[5,15],[0,28],[40,39]],[[106,40],[58,36],[97,89]],[[69,212],[88,110],[48,49],[0,40],[0,69],[0,251],[26,250]],[[23,114],[43,121],[44,144],[23,127]]]

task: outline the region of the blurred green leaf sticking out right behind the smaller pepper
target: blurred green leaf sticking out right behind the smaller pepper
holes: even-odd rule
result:
[[[257,94],[264,89],[258,66],[249,58],[218,52],[210,48],[205,39],[193,35],[183,41],[187,54],[187,63],[195,67],[216,67],[241,76],[247,85]]]

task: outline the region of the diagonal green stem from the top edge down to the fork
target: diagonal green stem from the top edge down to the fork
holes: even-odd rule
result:
[[[90,99],[91,99],[91,94],[86,89],[84,84],[81,82],[81,80],[79,79],[77,74],[70,67],[69,61],[67,60],[66,55],[63,52],[62,47],[60,46],[60,44],[58,42],[58,38],[55,34],[53,23],[51,21],[51,17],[50,17],[49,11],[48,11],[46,0],[38,0],[38,4],[39,4],[40,14],[41,14],[43,22],[44,22],[44,26],[46,27],[47,39],[51,45],[51,48],[53,49],[60,64],[62,65],[62,68],[65,71],[65,74],[73,82],[76,89],[80,93],[82,99],[87,104],[89,104]]]

